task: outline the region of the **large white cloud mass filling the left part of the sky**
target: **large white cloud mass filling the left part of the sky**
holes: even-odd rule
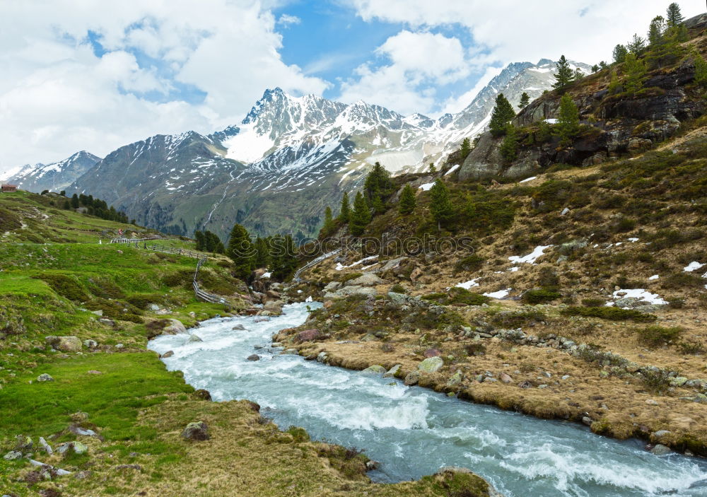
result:
[[[0,171],[81,149],[103,156],[157,133],[214,131],[238,122],[265,88],[321,93],[327,82],[280,57],[268,8],[283,3],[1,2]],[[156,62],[141,66],[136,54]],[[170,98],[179,83],[206,93],[204,103]]]

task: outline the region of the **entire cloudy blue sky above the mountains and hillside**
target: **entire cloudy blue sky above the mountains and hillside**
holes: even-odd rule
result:
[[[223,129],[276,86],[404,115],[458,112],[510,62],[609,59],[668,3],[5,0],[0,172]],[[679,4],[686,17],[705,9]]]

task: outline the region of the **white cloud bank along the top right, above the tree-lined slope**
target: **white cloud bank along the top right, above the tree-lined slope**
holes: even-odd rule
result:
[[[665,15],[665,0],[349,0],[361,18],[414,28],[461,25],[490,52],[488,62],[568,58],[593,64],[610,59],[617,43],[645,35]],[[699,1],[679,2],[685,17],[704,11]]]

